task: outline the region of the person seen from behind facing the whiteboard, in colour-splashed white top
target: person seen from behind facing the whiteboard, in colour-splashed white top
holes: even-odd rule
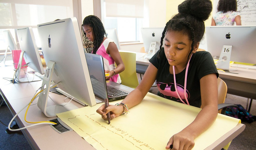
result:
[[[219,0],[218,12],[212,17],[212,26],[241,25],[241,16],[237,12],[237,0]]]

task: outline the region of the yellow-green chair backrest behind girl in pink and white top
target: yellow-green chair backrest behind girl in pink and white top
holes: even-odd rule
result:
[[[122,85],[136,88],[139,85],[136,73],[136,53],[119,52],[124,62],[125,70],[119,73]]]

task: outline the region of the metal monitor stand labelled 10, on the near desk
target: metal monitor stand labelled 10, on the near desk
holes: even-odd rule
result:
[[[51,78],[52,74],[54,72],[54,66],[55,62],[49,61],[46,67],[44,79],[42,82],[42,87],[41,90],[44,90],[44,94],[41,94],[38,98],[37,106],[41,109],[41,111],[45,114],[47,117],[56,117],[56,113],[61,113],[61,112],[66,112],[69,110],[77,109],[78,107],[75,106],[72,103],[67,103],[65,106],[61,105],[52,105],[52,106],[47,106],[47,101],[48,101],[48,95],[49,95],[49,90],[51,86]],[[59,84],[59,83],[58,83]],[[44,87],[46,88],[44,89]]]

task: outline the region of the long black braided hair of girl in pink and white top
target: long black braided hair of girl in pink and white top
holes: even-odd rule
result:
[[[91,42],[87,37],[86,33],[83,31],[83,26],[90,26],[92,28],[92,36],[93,42]],[[85,48],[85,52],[96,54],[96,51],[100,47],[101,43],[103,42],[104,36],[107,37],[106,31],[101,20],[94,15],[87,16],[83,19],[82,24],[82,31],[83,31],[83,44]]]

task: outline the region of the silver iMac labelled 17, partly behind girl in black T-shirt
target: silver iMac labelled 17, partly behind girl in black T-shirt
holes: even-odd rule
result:
[[[164,28],[141,28],[142,40],[148,60],[159,50],[163,31]]]

